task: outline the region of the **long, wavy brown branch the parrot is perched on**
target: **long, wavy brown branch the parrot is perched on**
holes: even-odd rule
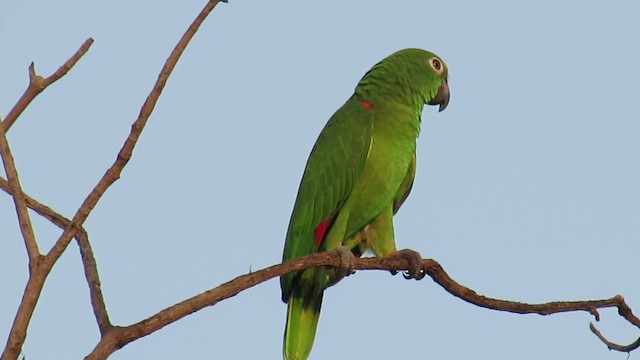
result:
[[[192,298],[186,299],[173,306],[170,306],[158,313],[129,326],[115,326],[111,328],[96,345],[93,351],[85,358],[86,360],[106,359],[114,351],[124,347],[132,341],[147,336],[181,318],[194,312],[202,310],[205,307],[213,306],[218,302],[231,298],[241,291],[265,282],[269,279],[282,276],[283,274],[300,271],[314,266],[333,266],[341,265],[341,256],[337,251],[321,252],[307,255],[298,259],[293,259],[282,264],[273,265],[268,268],[252,272],[246,275],[226,282],[216,288],[205,291]],[[354,269],[357,270],[409,270],[410,263],[407,259],[401,257],[388,258],[360,258],[354,259]],[[627,309],[631,311],[624,303],[621,296],[615,296],[610,299],[587,300],[587,301],[554,301],[542,304],[526,304],[522,302],[508,301],[489,298],[478,295],[475,291],[460,285],[444,271],[442,266],[435,260],[424,259],[422,261],[424,272],[429,275],[437,284],[442,286],[452,295],[469,302],[471,304],[484,308],[515,312],[520,314],[536,313],[541,315],[549,315],[568,311],[587,311],[596,316],[596,309],[618,307],[618,309]],[[626,310],[625,310],[626,311]],[[625,319],[632,324],[639,326],[637,318],[623,315]],[[639,340],[640,341],[640,340]],[[614,346],[609,346],[615,349]],[[616,349],[617,350],[617,349]],[[628,350],[620,350],[628,351]]]

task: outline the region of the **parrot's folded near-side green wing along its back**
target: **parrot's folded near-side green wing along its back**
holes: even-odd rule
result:
[[[313,253],[314,230],[335,215],[349,197],[371,147],[373,115],[357,95],[329,119],[318,136],[300,182],[282,260]],[[281,278],[287,301],[296,273]]]

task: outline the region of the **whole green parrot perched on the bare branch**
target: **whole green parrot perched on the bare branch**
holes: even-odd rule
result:
[[[396,252],[393,215],[413,185],[416,139],[424,104],[449,103],[447,65],[421,49],[395,52],[360,80],[354,94],[318,136],[302,175],[283,261],[339,247],[361,256]],[[311,352],[331,269],[316,267],[280,278],[288,303],[283,355]]]

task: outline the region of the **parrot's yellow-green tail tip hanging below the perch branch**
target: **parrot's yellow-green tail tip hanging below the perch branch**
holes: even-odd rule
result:
[[[284,358],[286,360],[306,360],[316,337],[322,294],[301,296],[294,289],[289,297],[287,325],[284,330]]]

